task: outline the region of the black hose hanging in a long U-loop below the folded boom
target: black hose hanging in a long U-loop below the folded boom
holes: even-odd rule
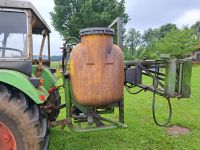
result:
[[[168,106],[169,106],[169,116],[167,118],[167,121],[164,124],[160,124],[160,123],[158,123],[158,121],[156,119],[156,112],[155,112],[155,92],[153,92],[153,99],[152,99],[153,120],[154,120],[154,122],[155,122],[156,125],[161,126],[161,127],[166,126],[170,122],[171,117],[172,117],[172,106],[171,106],[171,102],[170,102],[169,98],[167,98],[167,102],[168,102]]]

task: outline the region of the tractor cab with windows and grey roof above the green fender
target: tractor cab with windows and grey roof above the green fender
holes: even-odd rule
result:
[[[50,66],[50,32],[47,23],[30,2],[1,0],[0,69],[31,76],[33,64]],[[43,51],[46,51],[46,60],[42,60]]]

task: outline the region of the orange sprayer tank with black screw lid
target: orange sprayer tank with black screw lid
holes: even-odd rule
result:
[[[124,60],[113,44],[114,31],[108,28],[81,30],[81,43],[70,56],[72,93],[84,106],[105,106],[121,100]]]

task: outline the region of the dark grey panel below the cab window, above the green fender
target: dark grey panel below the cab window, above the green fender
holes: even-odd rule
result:
[[[0,69],[15,70],[31,77],[32,62],[29,60],[0,60]]]

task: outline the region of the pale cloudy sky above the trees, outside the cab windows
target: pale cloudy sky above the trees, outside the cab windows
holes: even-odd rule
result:
[[[53,55],[61,54],[62,39],[51,25],[49,12],[53,10],[53,0],[31,1],[52,29],[51,49]],[[143,31],[166,23],[178,26],[192,25],[200,20],[200,0],[126,0],[126,12],[131,20],[126,28]]]

